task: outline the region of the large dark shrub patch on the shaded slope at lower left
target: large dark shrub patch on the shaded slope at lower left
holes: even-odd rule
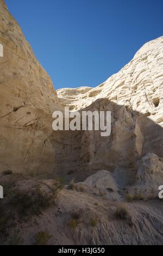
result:
[[[22,191],[16,184],[15,176],[13,180],[10,179],[2,184],[5,203],[4,200],[0,200],[1,237],[8,235],[9,229],[15,227],[16,221],[28,221],[32,216],[40,215],[43,210],[55,205],[61,189],[60,183],[56,181],[49,187],[48,192],[42,191],[40,185],[36,185],[32,190]],[[14,236],[10,243],[16,243],[16,240]]]

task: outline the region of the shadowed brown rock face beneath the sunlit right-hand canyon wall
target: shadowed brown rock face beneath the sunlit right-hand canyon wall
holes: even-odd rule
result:
[[[108,99],[98,99],[83,110],[103,109],[111,111],[109,137],[101,137],[101,131],[60,131],[53,135],[58,175],[82,181],[104,169],[113,173],[121,186],[133,184],[138,160],[148,153],[162,157],[162,127],[131,107]]]

